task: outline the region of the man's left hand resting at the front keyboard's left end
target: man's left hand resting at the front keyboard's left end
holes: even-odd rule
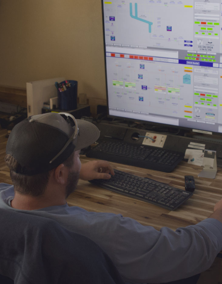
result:
[[[109,179],[111,178],[111,173],[114,175],[113,168],[106,161],[90,161],[88,163],[82,164],[79,178],[84,181],[91,181],[92,179]]]

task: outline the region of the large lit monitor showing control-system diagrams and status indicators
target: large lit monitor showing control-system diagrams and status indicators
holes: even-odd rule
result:
[[[219,0],[102,1],[108,115],[222,133]]]

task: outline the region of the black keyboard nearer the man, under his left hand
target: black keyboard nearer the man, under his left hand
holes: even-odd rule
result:
[[[193,195],[192,192],[174,188],[150,178],[140,178],[134,174],[128,174],[115,169],[114,172],[115,175],[109,180],[94,179],[90,182],[101,188],[140,199],[169,210],[177,209]]]

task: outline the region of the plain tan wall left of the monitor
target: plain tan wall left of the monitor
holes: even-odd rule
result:
[[[0,85],[64,76],[106,98],[100,0],[0,0]]]

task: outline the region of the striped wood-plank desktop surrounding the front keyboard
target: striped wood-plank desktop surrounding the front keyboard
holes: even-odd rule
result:
[[[95,159],[80,156],[80,160],[83,164]],[[185,161],[181,161],[172,173],[111,162],[110,164],[118,170],[140,177],[152,178],[181,189],[184,189],[184,175],[193,175],[196,189],[193,196],[177,210],[169,211],[144,201],[99,188],[88,181],[79,180],[76,191],[67,198],[68,204],[82,207],[87,211],[120,213],[124,217],[135,219],[142,225],[151,225],[157,230],[164,226],[175,230],[178,227],[194,225],[209,217],[214,211],[215,203],[222,198],[221,168],[217,168],[215,179],[207,179],[197,177],[202,167],[187,164]]]

